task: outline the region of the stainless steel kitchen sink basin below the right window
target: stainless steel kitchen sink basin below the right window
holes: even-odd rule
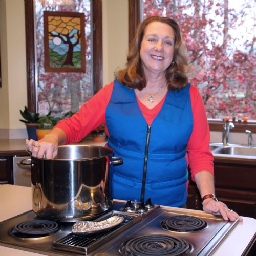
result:
[[[226,154],[226,155],[238,155],[238,156],[248,156],[256,157],[256,147],[246,147],[246,146],[223,146],[216,147],[212,150],[214,154]]]

